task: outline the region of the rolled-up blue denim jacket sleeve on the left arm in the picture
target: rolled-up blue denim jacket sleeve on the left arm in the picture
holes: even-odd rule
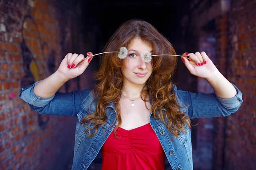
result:
[[[73,90],[67,93],[56,92],[50,98],[41,98],[34,92],[34,86],[39,82],[22,88],[19,97],[40,114],[76,116],[81,110],[82,99],[90,93],[90,89]]]

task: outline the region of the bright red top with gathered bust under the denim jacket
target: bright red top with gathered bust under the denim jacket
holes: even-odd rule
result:
[[[102,170],[164,170],[164,151],[152,129],[145,124],[132,130],[119,127],[102,146]]]

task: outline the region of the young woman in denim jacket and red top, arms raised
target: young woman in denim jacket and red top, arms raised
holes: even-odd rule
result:
[[[40,114],[77,116],[72,170],[86,170],[102,151],[102,170],[193,170],[190,118],[227,116],[241,106],[239,89],[227,81],[205,52],[184,53],[189,72],[206,78],[215,94],[177,90],[172,82],[175,49],[151,24],[128,20],[104,51],[93,89],[61,93],[68,80],[81,75],[93,57],[68,53],[48,78],[22,89],[20,98]],[[83,61],[82,61],[83,60]]]

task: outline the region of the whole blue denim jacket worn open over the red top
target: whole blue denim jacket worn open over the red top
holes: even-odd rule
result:
[[[37,81],[35,84],[38,84]],[[87,138],[88,123],[81,124],[82,118],[89,114],[89,105],[93,101],[93,95],[90,89],[83,91],[74,90],[68,93],[56,92],[50,98],[41,98],[34,93],[34,86],[21,90],[20,98],[29,104],[31,109],[39,114],[48,115],[68,115],[77,116],[75,147],[72,170],[86,170],[96,155],[99,153],[102,145],[113,131],[116,125],[116,109],[113,103],[106,105],[108,121],[102,127],[99,127],[97,133]],[[177,90],[174,85],[172,92],[175,93],[178,103],[185,107],[181,111],[189,115],[190,118],[206,118],[227,116],[236,112],[242,103],[242,94],[239,89],[232,84],[237,91],[233,98],[223,99],[215,94],[191,93],[188,91]],[[171,93],[172,93],[171,92]],[[97,101],[94,101],[90,107],[90,112],[96,109]],[[186,107],[188,106],[189,107]],[[201,109],[204,108],[204,109]],[[162,111],[166,111],[162,108]],[[156,133],[166,157],[173,170],[193,170],[191,131],[186,125],[187,133],[180,132],[179,138],[174,141],[174,135],[168,128],[150,113],[149,122]],[[112,126],[111,126],[112,124]],[[91,133],[94,131],[92,130]]]

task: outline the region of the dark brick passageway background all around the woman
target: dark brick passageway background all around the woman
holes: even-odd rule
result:
[[[0,169],[71,169],[77,117],[38,115],[19,98],[20,90],[55,72],[68,52],[102,52],[133,18],[155,26],[178,55],[206,52],[243,93],[236,113],[192,120],[198,123],[192,127],[194,169],[256,166],[256,0],[0,0]],[[59,92],[91,88],[98,64],[93,58]],[[180,58],[174,83],[180,90],[214,92]],[[89,169],[100,167],[99,154]]]

